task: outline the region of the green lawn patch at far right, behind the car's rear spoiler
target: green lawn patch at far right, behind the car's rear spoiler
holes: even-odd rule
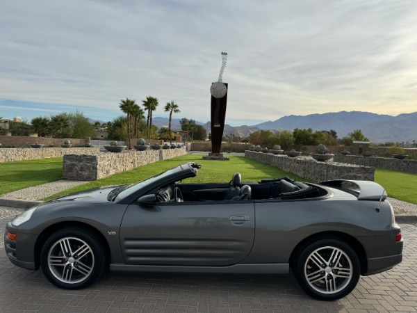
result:
[[[375,182],[385,188],[389,197],[417,204],[417,174],[376,168]]]

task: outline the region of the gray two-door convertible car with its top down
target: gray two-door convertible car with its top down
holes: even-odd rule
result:
[[[10,221],[10,261],[80,289],[108,268],[136,272],[288,274],[335,300],[359,275],[402,261],[402,236],[375,182],[318,184],[288,177],[185,184],[185,163],[138,184],[95,188],[40,204]]]

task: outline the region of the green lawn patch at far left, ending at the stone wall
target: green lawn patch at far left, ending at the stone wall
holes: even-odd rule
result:
[[[62,157],[0,163],[0,195],[55,182],[62,177]]]

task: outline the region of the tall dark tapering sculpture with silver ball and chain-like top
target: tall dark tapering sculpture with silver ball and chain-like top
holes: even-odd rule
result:
[[[223,157],[220,153],[222,147],[222,138],[224,130],[224,120],[226,119],[226,105],[227,105],[227,90],[228,84],[223,83],[222,76],[224,67],[227,63],[227,52],[222,52],[222,67],[220,67],[220,74],[218,81],[211,84],[211,153],[204,156],[203,159],[222,159],[229,160]]]

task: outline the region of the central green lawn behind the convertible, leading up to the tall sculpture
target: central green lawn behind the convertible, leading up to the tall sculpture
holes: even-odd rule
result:
[[[261,178],[273,178],[282,176],[289,176],[292,179],[311,182],[309,179],[302,179],[301,177],[291,172],[284,172],[283,170],[275,168],[274,166],[259,163],[245,157],[229,156],[229,159],[230,161],[203,160],[202,154],[187,154],[174,159],[158,161],[156,163],[148,164],[147,166],[140,166],[134,170],[120,172],[103,179],[95,180],[88,184],[76,186],[67,191],[51,195],[50,197],[44,198],[43,200],[51,200],[68,193],[83,191],[88,188],[99,186],[133,184],[140,182],[147,177],[156,175],[158,172],[163,172],[164,170],[186,162],[196,162],[202,165],[202,168],[198,170],[197,177],[183,180],[183,182],[187,183],[229,182],[231,175],[233,175],[235,172],[240,172],[243,182],[258,182],[261,180]]]

